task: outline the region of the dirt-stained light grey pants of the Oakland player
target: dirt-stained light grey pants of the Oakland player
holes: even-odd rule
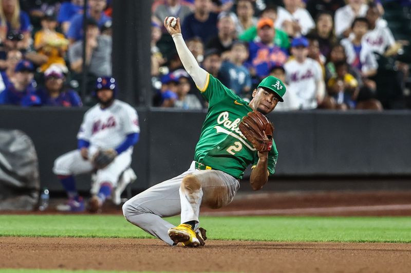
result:
[[[234,198],[240,184],[237,179],[217,170],[200,171],[193,161],[190,169],[181,175],[154,185],[134,196],[123,205],[124,217],[130,223],[169,245],[167,234],[173,224],[161,219],[181,213],[181,223],[196,221],[200,205],[220,208]]]

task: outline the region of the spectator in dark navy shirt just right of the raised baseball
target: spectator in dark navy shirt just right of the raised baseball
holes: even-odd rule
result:
[[[204,45],[217,36],[217,14],[211,12],[211,0],[195,0],[194,13],[185,17],[182,25],[184,40],[195,36],[201,38]]]

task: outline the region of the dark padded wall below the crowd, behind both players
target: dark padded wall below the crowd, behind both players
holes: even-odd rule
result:
[[[76,149],[86,108],[0,108],[0,128],[33,140],[41,185],[62,190],[51,172],[59,155]],[[135,190],[188,169],[206,112],[137,108],[141,137],[132,167]],[[411,112],[273,112],[278,177],[411,176]],[[89,178],[79,179],[80,190]]]

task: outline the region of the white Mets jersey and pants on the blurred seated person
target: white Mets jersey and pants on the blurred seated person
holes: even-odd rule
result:
[[[100,104],[97,104],[84,114],[83,123],[77,135],[78,139],[90,143],[89,160],[83,159],[80,150],[74,150],[54,161],[53,172],[56,175],[89,173],[94,169],[90,159],[99,149],[116,149],[127,135],[139,132],[137,111],[129,104],[114,100],[113,104],[105,109],[101,109]],[[98,184],[109,182],[116,186],[119,176],[131,163],[132,154],[133,147],[130,147],[119,154],[107,167],[98,170],[96,182]]]

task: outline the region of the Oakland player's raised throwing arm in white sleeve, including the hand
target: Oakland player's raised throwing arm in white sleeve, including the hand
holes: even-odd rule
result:
[[[169,24],[167,24],[168,18],[169,17],[165,17],[164,19],[164,27],[173,37],[178,56],[180,57],[184,69],[187,71],[187,73],[189,73],[189,75],[196,83],[197,87],[201,90],[206,86],[208,72],[198,65],[196,58],[191,53],[189,48],[185,45],[185,41],[181,34],[180,18],[177,18],[177,24],[174,27],[171,26],[172,22],[169,22]]]

